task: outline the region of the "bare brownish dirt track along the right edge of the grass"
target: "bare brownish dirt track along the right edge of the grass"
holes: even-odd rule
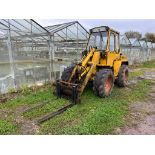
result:
[[[155,81],[155,69],[145,71],[140,79]],[[125,118],[126,126],[118,128],[115,134],[121,135],[155,135],[155,82],[145,101],[129,106],[129,116]]]

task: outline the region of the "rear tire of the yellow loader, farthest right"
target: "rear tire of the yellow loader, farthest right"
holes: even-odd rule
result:
[[[128,74],[128,66],[122,65],[118,73],[118,78],[116,79],[116,84],[119,87],[126,87],[128,85]]]

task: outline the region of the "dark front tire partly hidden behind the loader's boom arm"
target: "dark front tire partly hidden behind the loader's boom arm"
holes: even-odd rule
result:
[[[62,81],[68,81],[69,80],[69,77],[71,76],[74,67],[75,67],[75,65],[71,65],[71,66],[65,68],[65,70],[62,72],[62,75],[61,75]]]

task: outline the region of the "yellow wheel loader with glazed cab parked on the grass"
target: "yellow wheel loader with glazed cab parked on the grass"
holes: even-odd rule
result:
[[[67,67],[56,81],[58,97],[79,103],[89,81],[93,81],[94,94],[101,98],[110,95],[114,83],[127,86],[128,59],[120,52],[119,32],[108,26],[92,28],[82,55],[81,61]]]

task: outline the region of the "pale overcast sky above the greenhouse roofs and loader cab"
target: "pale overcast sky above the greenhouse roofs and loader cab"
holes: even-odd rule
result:
[[[50,26],[75,21],[75,19],[39,19],[36,21],[42,26]],[[155,33],[155,19],[78,19],[77,21],[87,30],[95,26],[106,25],[120,31],[122,34],[129,30],[139,31],[142,34],[146,32]]]

